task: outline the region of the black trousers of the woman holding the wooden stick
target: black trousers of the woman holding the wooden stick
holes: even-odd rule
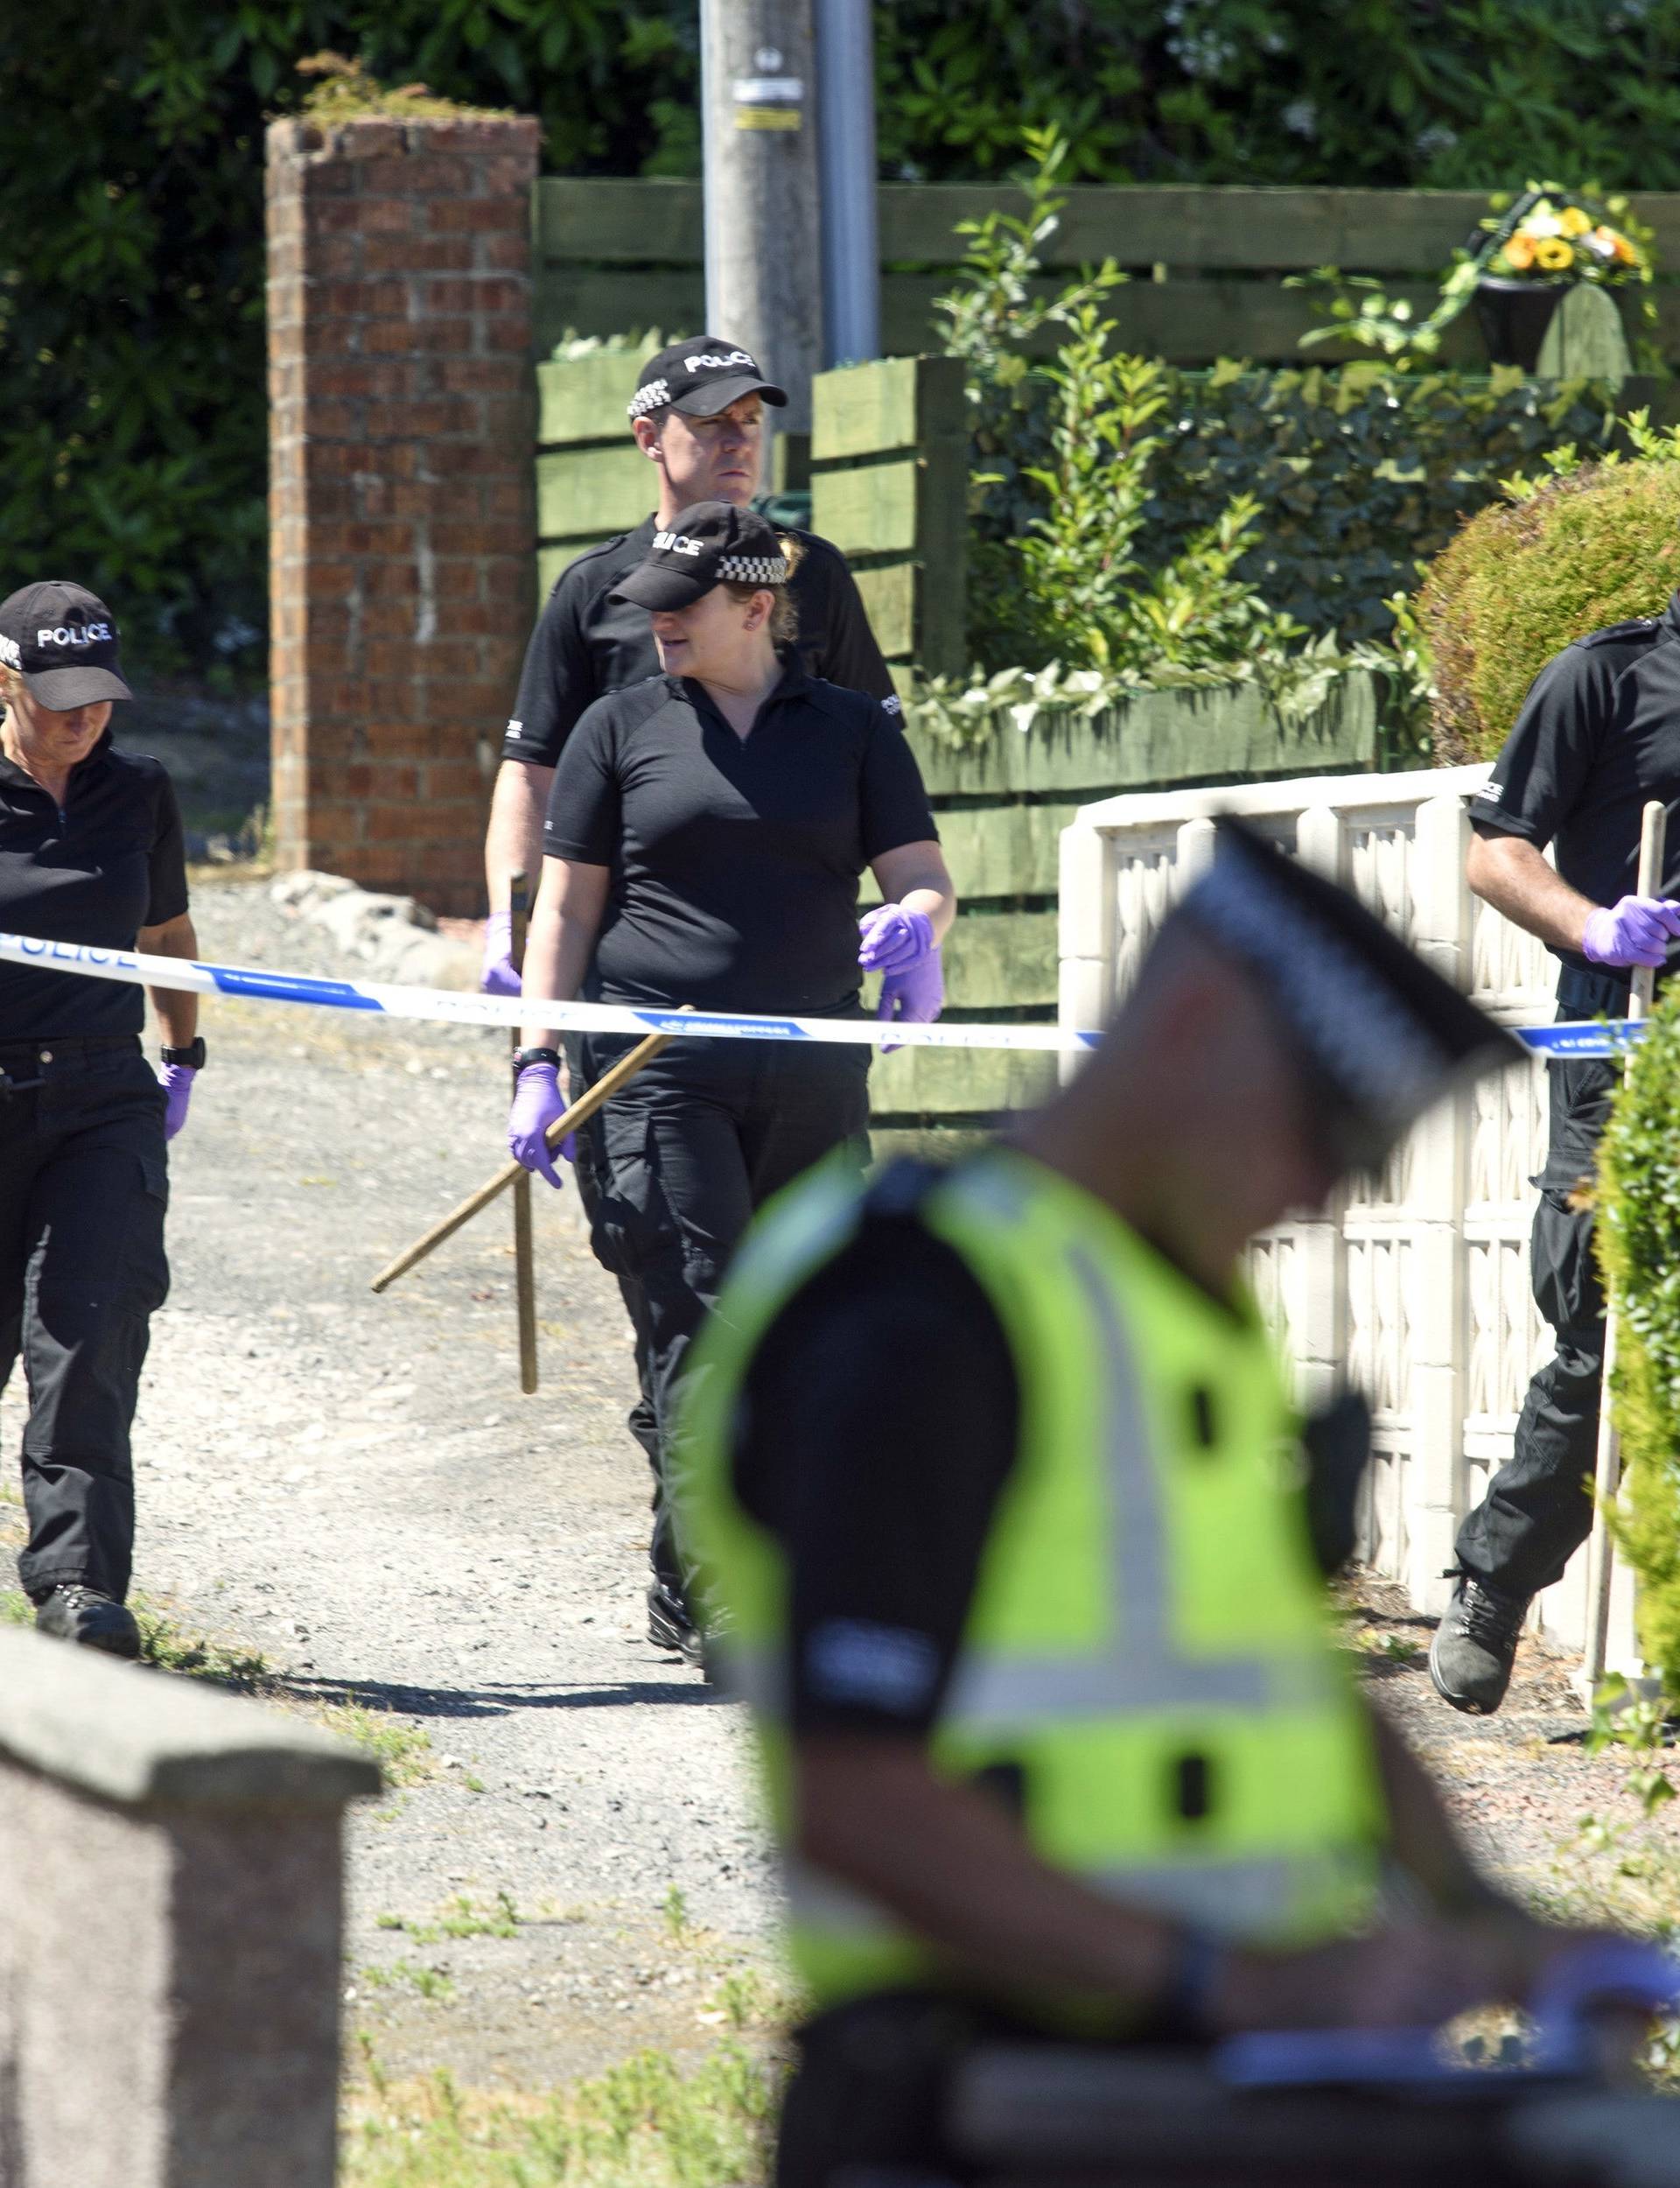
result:
[[[575,1035],[573,1094],[634,1041]],[[676,1041],[578,1133],[591,1243],[619,1282],[641,1394],[630,1433],[654,1475],[654,1575],[685,1593],[672,1525],[676,1392],[752,1214],[827,1155],[868,1162],[868,1048]]]

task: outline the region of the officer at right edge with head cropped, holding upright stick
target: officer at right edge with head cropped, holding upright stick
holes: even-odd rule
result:
[[[1634,895],[1649,799],[1669,807],[1660,897]],[[1625,1017],[1632,967],[1660,969],[1680,934],[1680,595],[1665,615],[1595,630],[1540,670],[1470,821],[1470,888],[1560,961],[1558,1015]],[[1562,1578],[1592,1525],[1603,1291],[1579,1186],[1597,1171],[1617,1068],[1555,1063],[1547,1081],[1531,1282],[1555,1354],[1529,1383],[1512,1457],[1459,1527],[1452,1599],[1428,1654],[1437,1694],[1472,1713],[1503,1702],[1529,1597]]]

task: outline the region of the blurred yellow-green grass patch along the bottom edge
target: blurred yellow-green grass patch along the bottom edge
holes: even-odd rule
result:
[[[724,2044],[691,2074],[639,2052],[549,2096],[392,2083],[363,2046],[370,2087],[343,2122],[343,2188],[731,2188],[763,2179],[779,2070]]]

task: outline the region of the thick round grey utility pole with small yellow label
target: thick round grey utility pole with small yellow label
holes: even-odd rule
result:
[[[707,333],[788,389],[790,433],[812,429],[822,330],[814,59],[812,0],[700,0]]]

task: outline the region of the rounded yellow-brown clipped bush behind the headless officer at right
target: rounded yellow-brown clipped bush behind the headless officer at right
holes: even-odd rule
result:
[[[1614,453],[1518,481],[1435,558],[1418,626],[1435,676],[1435,755],[1492,759],[1522,696],[1571,639],[1660,615],[1680,584],[1680,440],[1632,422],[1634,462]]]

